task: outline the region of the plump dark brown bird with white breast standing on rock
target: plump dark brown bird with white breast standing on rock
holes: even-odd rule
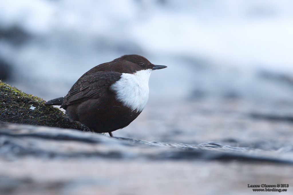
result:
[[[143,56],[124,55],[92,68],[66,96],[45,104],[59,105],[71,120],[113,137],[112,131],[129,125],[146,106],[151,71],[166,67]]]

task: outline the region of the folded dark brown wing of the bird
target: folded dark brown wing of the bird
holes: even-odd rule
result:
[[[96,72],[83,75],[71,87],[61,106],[79,103],[88,99],[98,99],[108,93],[111,84],[120,79],[122,73]]]

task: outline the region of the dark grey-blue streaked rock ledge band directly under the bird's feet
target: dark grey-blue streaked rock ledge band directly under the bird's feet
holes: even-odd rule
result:
[[[0,124],[0,156],[8,160],[39,158],[107,158],[144,160],[246,161],[292,164],[291,153],[222,146],[162,143],[33,125]]]

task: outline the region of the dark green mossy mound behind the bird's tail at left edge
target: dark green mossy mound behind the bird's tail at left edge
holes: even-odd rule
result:
[[[71,122],[58,108],[46,106],[45,102],[0,81],[0,122],[90,131],[79,122]]]

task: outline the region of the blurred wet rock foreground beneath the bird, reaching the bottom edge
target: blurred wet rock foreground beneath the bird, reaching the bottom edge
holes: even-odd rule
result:
[[[293,153],[0,124],[0,194],[251,194],[289,184]],[[200,193],[199,191],[200,190]]]

